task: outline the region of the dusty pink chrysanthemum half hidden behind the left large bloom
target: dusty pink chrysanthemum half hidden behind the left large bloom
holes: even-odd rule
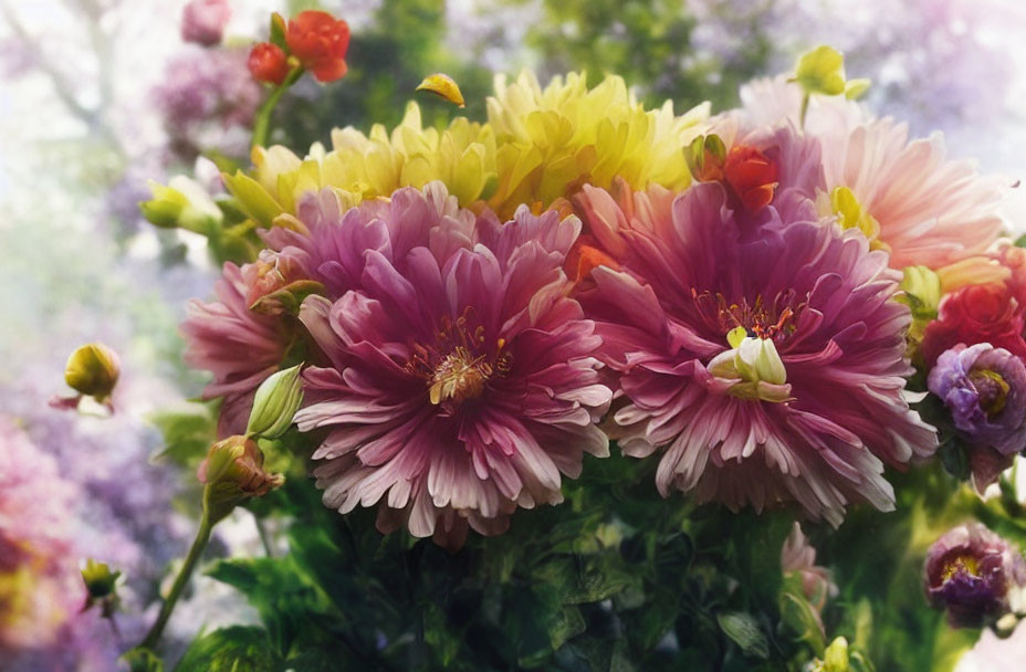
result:
[[[264,258],[241,269],[226,263],[216,285],[218,301],[191,302],[181,324],[184,359],[213,374],[203,398],[223,398],[218,426],[222,437],[245,430],[256,388],[279,369],[292,340],[286,318],[251,308],[266,290],[260,269],[269,266]]]

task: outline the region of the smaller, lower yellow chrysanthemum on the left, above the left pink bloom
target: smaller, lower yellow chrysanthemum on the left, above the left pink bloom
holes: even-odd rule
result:
[[[457,117],[448,128],[425,128],[420,108],[410,103],[391,134],[380,124],[370,135],[346,127],[332,132],[332,149],[314,145],[305,159],[274,146],[253,149],[251,175],[226,178],[243,210],[264,225],[294,213],[299,198],[333,187],[347,201],[387,197],[400,187],[446,183],[461,206],[486,198],[496,183],[495,139],[485,124]]]

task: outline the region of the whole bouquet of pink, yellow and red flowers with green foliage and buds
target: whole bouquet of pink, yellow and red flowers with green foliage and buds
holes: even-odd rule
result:
[[[827,46],[715,115],[523,72],[485,120],[270,144],[348,41],[275,15],[252,165],[143,203],[223,272],[181,325],[199,533],[127,664],[161,668],[199,565],[259,618],[177,670],[949,670],[1015,629],[1011,180],[873,116]],[[265,553],[205,559],[237,508]]]

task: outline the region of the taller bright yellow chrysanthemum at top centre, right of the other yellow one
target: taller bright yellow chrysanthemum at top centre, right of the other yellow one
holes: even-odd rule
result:
[[[544,90],[528,71],[512,84],[499,75],[488,99],[499,145],[499,188],[489,203],[501,216],[520,203],[545,208],[584,183],[609,188],[617,176],[634,189],[683,189],[691,182],[683,148],[708,116],[708,104],[682,116],[670,101],[646,111],[611,75],[591,90],[584,73],[555,77]]]

